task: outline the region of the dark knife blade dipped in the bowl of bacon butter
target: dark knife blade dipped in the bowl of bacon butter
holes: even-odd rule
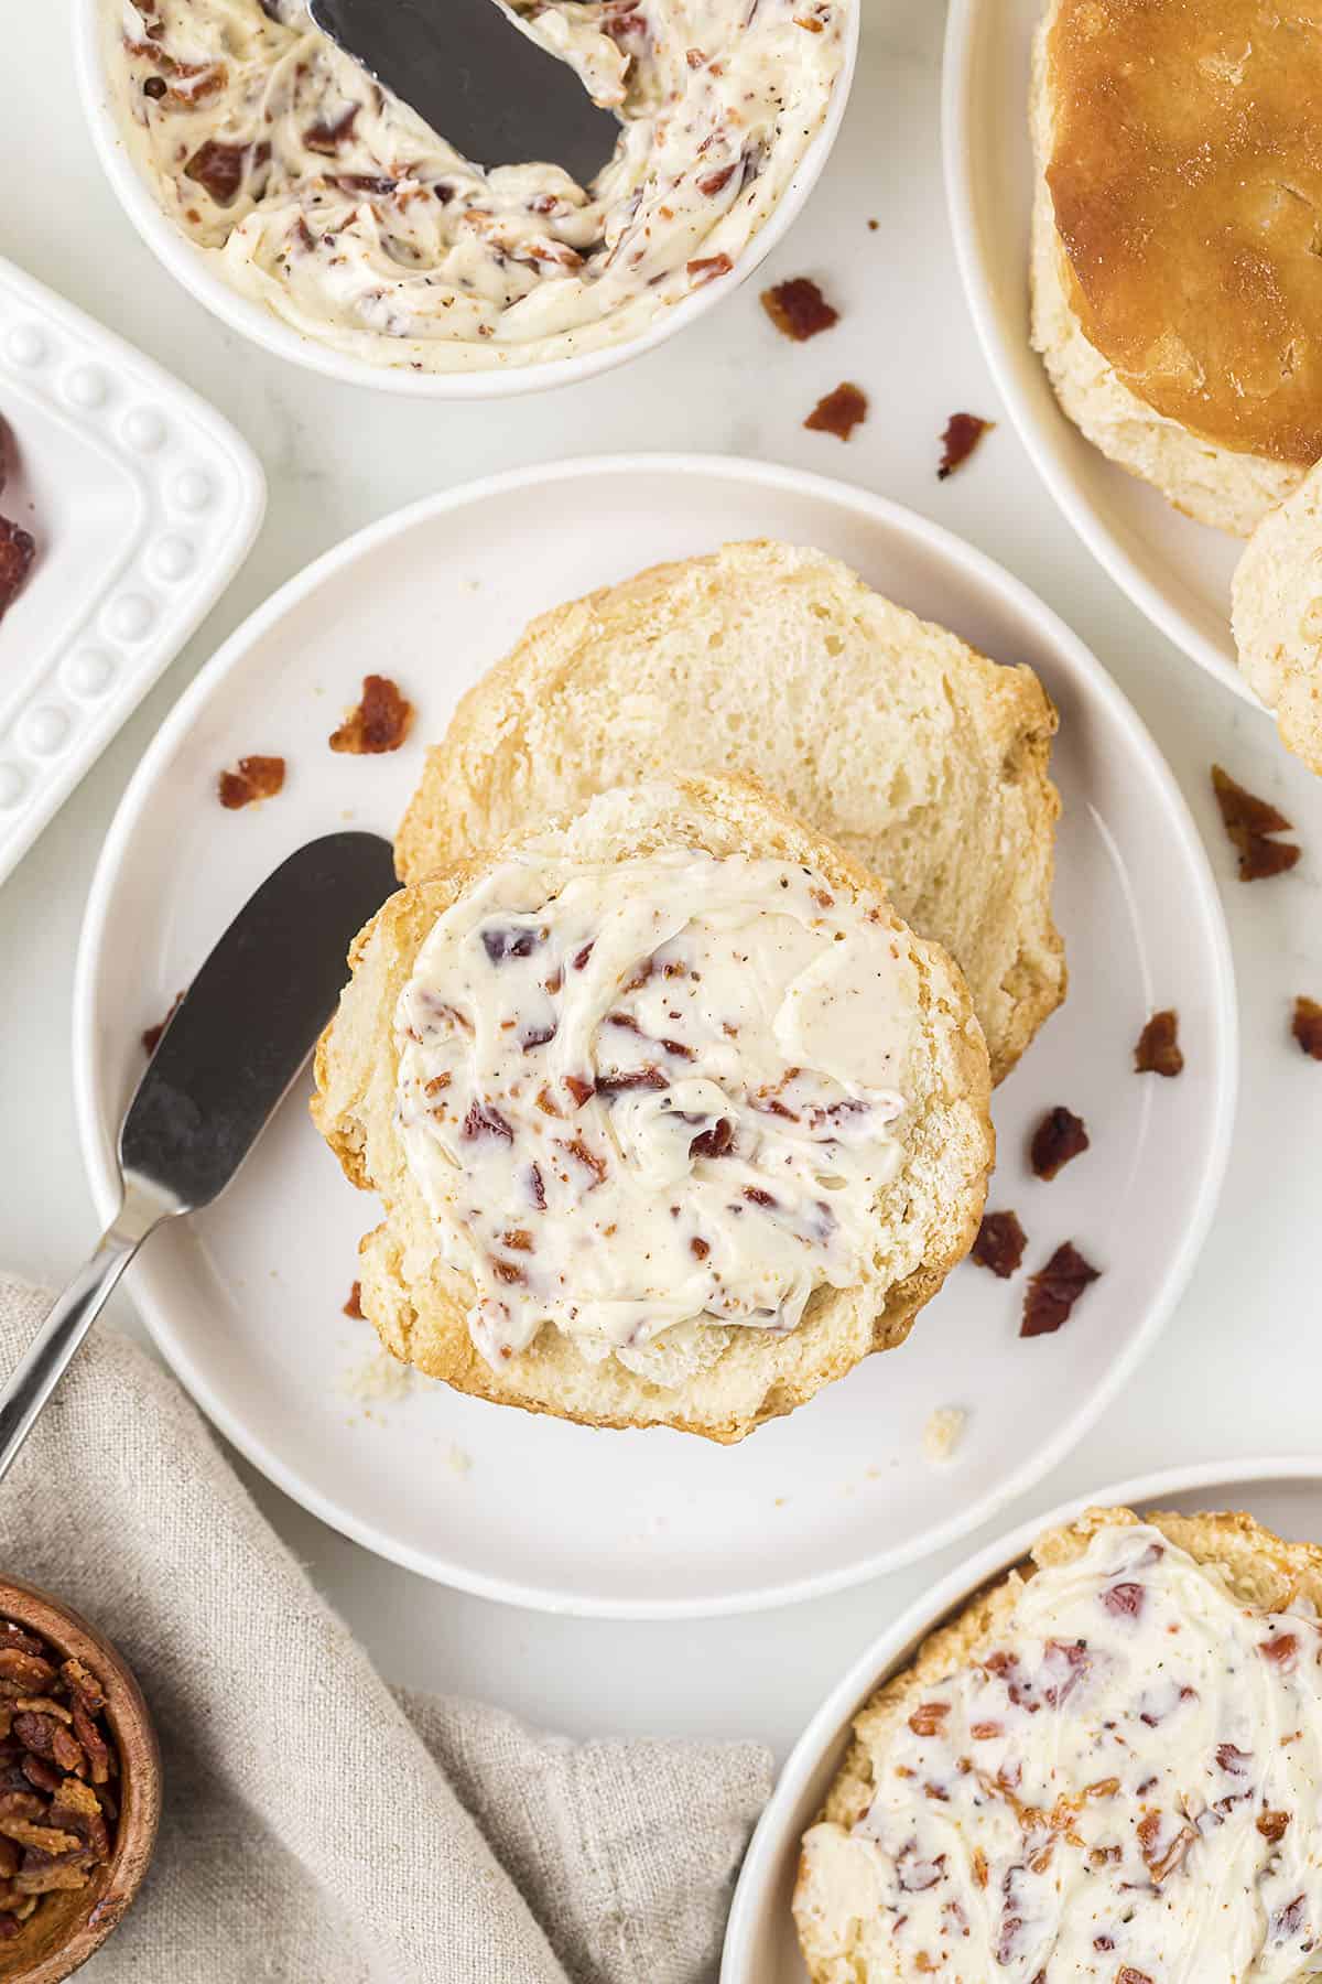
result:
[[[587,186],[620,125],[499,0],[309,0],[317,28],[474,165],[561,165]]]

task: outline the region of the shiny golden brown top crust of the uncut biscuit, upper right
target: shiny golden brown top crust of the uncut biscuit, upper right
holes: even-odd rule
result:
[[[1058,0],[1047,183],[1084,335],[1157,413],[1322,456],[1322,0]]]

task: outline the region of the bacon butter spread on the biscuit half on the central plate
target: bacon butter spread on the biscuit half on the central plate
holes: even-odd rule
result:
[[[654,1375],[660,1337],[791,1331],[866,1282],[916,1008],[888,923],[793,863],[494,869],[396,1010],[406,1163],[482,1355],[553,1325]]]

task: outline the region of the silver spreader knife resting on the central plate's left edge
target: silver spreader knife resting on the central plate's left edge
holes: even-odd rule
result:
[[[0,1478],[143,1240],[230,1184],[335,1012],[355,932],[394,887],[388,841],[327,833],[262,883],[206,958],[119,1131],[123,1204],[0,1397]]]

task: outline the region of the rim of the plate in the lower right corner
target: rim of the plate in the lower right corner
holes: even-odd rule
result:
[[[783,1851],[785,1823],[793,1813],[813,1772],[838,1742],[858,1708],[926,1639],[941,1619],[973,1597],[985,1583],[1027,1557],[1047,1530],[1072,1522],[1084,1508],[1156,1508],[1159,1496],[1193,1494],[1199,1488],[1259,1486],[1263,1482],[1298,1480],[1322,1486],[1322,1454],[1257,1456],[1249,1460],[1195,1460],[1187,1466],[1161,1468],[1154,1474],[1134,1474],[1122,1482],[1070,1496],[1041,1516],[1029,1516],[1007,1536],[993,1538],[973,1557],[947,1571],[924,1597],[914,1599],[884,1633],[864,1647],[840,1674],[826,1698],[809,1718],[795,1742],[775,1792],[757,1821],[743,1857],[735,1899],[725,1926],[719,1984],[749,1984],[745,1966],[751,1950],[745,1946],[757,1934],[757,1911],[777,1879],[777,1855]]]

